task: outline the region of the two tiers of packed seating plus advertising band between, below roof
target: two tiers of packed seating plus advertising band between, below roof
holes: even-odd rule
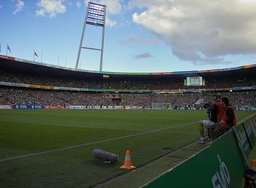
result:
[[[205,76],[205,85],[191,89],[184,86],[184,76],[117,76],[104,79],[92,74],[80,75],[79,72],[72,72],[71,76],[47,74],[50,68],[44,68],[38,74],[39,71],[27,71],[14,65],[6,68],[0,64],[0,105],[202,109],[204,103],[212,102],[212,96],[218,92],[229,97],[236,109],[256,108],[256,77],[244,72],[238,74],[236,71],[225,77],[218,74]]]

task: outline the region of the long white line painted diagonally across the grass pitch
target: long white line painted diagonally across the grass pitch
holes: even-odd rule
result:
[[[12,157],[8,157],[8,158],[5,158],[5,159],[0,159],[0,162],[10,161],[10,160],[20,159],[20,158],[26,158],[26,157],[29,157],[29,156],[39,156],[39,155],[44,155],[44,154],[47,154],[47,153],[53,153],[53,152],[56,152],[56,151],[72,150],[72,149],[77,148],[77,147],[84,147],[84,146],[88,146],[88,145],[92,145],[92,144],[99,144],[99,143],[108,142],[108,141],[116,141],[116,140],[120,140],[120,139],[123,139],[123,138],[131,138],[131,137],[135,137],[135,136],[139,136],[139,135],[147,135],[147,134],[150,134],[150,133],[153,133],[153,132],[160,132],[160,131],[164,131],[164,130],[167,130],[167,129],[172,129],[172,128],[176,128],[176,127],[180,127],[180,126],[188,126],[188,125],[193,124],[193,123],[196,123],[196,122],[184,123],[184,124],[181,124],[181,125],[178,125],[178,126],[169,126],[169,127],[165,127],[165,128],[161,128],[161,129],[151,130],[151,131],[148,131],[148,132],[136,133],[136,134],[133,134],[133,135],[125,135],[125,136],[120,136],[120,137],[116,137],[116,138],[108,138],[108,139],[105,139],[105,140],[102,140],[102,141],[93,141],[93,142],[89,142],[89,143],[85,143],[85,144],[78,144],[78,145],[69,146],[69,147],[62,147],[62,148],[55,149],[55,150],[47,150],[47,151],[42,151],[42,152],[37,152],[37,153],[29,153],[29,154],[26,154],[26,155],[23,155],[23,156],[12,156]]]

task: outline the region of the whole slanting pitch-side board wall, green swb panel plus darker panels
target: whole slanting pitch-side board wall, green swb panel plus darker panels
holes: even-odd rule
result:
[[[145,186],[237,188],[255,139],[256,114]]]

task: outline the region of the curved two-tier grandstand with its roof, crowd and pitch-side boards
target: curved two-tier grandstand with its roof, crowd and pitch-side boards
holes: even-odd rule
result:
[[[1,56],[1,71],[1,102],[16,108],[24,104],[40,108],[202,109],[216,93],[229,96],[237,110],[256,108],[256,65],[118,74],[77,71]],[[197,81],[188,85],[188,79]],[[10,89],[12,96],[8,95]]]

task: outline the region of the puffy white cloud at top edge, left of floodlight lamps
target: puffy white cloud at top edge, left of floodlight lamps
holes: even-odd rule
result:
[[[56,14],[66,12],[66,6],[62,4],[63,0],[40,0],[38,2],[39,10],[36,11],[38,17],[56,17]]]

